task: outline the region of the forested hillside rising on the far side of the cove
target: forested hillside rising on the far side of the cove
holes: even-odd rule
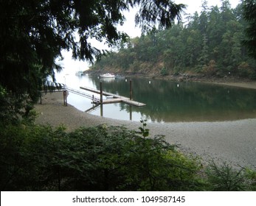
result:
[[[208,7],[204,1],[200,14],[185,15],[183,22],[171,29],[131,39],[91,69],[151,76],[204,74],[256,79],[256,61],[242,43],[247,26],[242,4],[232,9],[226,0],[221,7]]]

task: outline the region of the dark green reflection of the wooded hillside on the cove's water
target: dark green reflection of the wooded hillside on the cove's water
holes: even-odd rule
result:
[[[98,83],[99,84],[99,83]],[[218,121],[256,116],[256,91],[198,82],[133,79],[133,98],[147,104],[132,107],[151,121]],[[179,85],[179,87],[178,87]],[[103,90],[129,96],[129,79],[103,82]],[[128,104],[120,110],[130,113]]]

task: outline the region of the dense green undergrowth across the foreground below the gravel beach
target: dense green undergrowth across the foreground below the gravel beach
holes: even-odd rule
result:
[[[1,191],[254,191],[255,171],[201,166],[162,135],[125,127],[1,125]],[[220,175],[221,174],[221,175]]]

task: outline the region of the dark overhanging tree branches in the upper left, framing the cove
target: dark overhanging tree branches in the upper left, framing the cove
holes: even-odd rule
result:
[[[55,80],[55,71],[60,71],[55,60],[62,58],[63,49],[72,50],[75,59],[93,61],[104,51],[89,38],[109,46],[125,40],[117,25],[125,21],[122,11],[134,6],[141,7],[136,21],[144,29],[149,29],[145,24],[170,26],[184,8],[170,0],[1,0],[1,95],[35,101],[47,77]]]

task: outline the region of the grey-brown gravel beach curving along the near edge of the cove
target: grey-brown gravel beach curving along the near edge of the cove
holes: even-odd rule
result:
[[[63,124],[68,131],[80,126],[99,124],[125,126],[138,130],[136,121],[120,121],[93,116],[68,105],[63,106],[63,93],[47,93],[42,104],[36,104],[38,124]],[[180,145],[183,152],[197,154],[203,160],[226,161],[236,166],[256,168],[256,118],[220,122],[148,123],[151,136],[165,135],[169,143]]]

